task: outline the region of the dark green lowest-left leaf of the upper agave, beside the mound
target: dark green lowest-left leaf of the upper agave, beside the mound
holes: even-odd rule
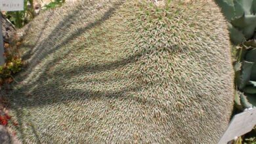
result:
[[[242,31],[233,27],[232,24],[228,24],[228,29],[230,31],[230,39],[234,45],[240,45],[246,40]]]

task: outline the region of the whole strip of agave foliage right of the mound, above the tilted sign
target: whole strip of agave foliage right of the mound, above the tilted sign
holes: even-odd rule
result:
[[[216,0],[236,46],[235,102],[239,109],[256,107],[256,0]]]

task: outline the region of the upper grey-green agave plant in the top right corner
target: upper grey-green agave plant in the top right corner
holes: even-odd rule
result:
[[[256,0],[216,0],[230,23],[230,39],[235,45],[256,38]],[[256,42],[254,45],[256,45]]]

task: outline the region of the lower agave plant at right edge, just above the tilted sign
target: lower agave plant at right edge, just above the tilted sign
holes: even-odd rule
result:
[[[256,107],[256,48],[240,48],[236,62],[236,85],[238,92],[235,102],[240,108]]]

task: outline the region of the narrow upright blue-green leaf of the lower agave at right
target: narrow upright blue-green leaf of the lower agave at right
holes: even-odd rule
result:
[[[240,78],[240,83],[238,84],[238,87],[240,90],[242,90],[245,85],[247,84],[247,82],[250,81],[251,78],[251,69],[253,67],[253,62],[247,62],[244,61],[242,64],[242,75]]]

